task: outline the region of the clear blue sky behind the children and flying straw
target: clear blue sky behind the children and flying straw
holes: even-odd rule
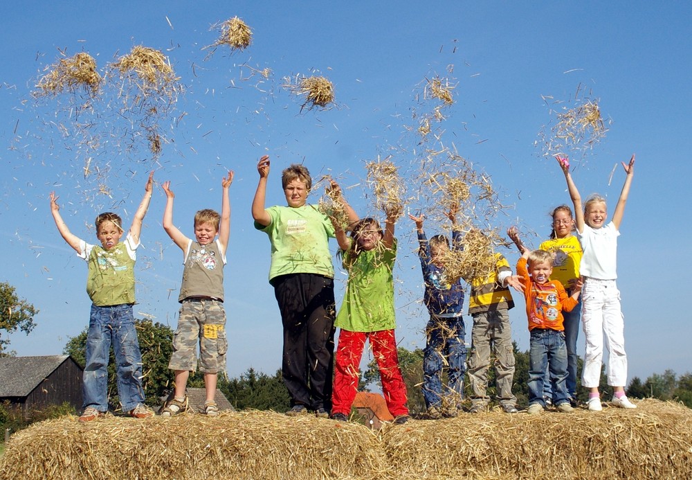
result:
[[[219,48],[207,57],[202,48],[217,37],[210,26],[235,15],[253,28],[252,46],[233,55]],[[283,204],[280,170],[302,161],[314,177],[331,173],[349,187],[347,197],[361,215],[376,213],[365,196],[365,162],[392,154],[406,170],[420,161],[420,138],[407,127],[417,127],[413,114],[432,109],[418,96],[424,79],[438,74],[457,85],[441,125],[443,143],[491,176],[511,207],[498,226],[518,222],[534,232],[534,246],[547,237],[548,212],[569,202],[560,170],[534,146],[552,118],[541,96],[569,106],[583,85],[600,99],[612,125],[574,177],[583,194],[598,191],[615,202],[624,174],[618,167],[609,185],[610,172],[637,154],[618,267],[630,378],[690,370],[681,251],[691,233],[686,212],[692,166],[682,144],[692,130],[689,3],[34,1],[4,2],[0,18],[0,281],[15,285],[41,310],[29,336],[12,335],[18,355],[62,352],[89,319],[86,265],[55,229],[51,190],[60,195],[73,233],[95,241],[93,217],[116,208],[129,224],[153,169],[157,182],[172,180],[175,222],[192,236],[194,211],[220,208],[221,177],[233,169],[225,270],[228,372],[236,376],[252,366],[273,373],[280,367],[281,327],[266,280],[268,240],[253,229],[250,213],[257,159],[270,154],[273,160],[267,205]],[[84,179],[78,137],[62,136],[57,128],[73,125],[69,106],[75,98],[36,103],[29,94],[59,51],[86,51],[102,68],[138,44],[170,57],[185,94],[160,125],[171,143],[158,163],[133,137],[141,130],[136,123],[129,125],[112,109],[100,113],[95,130],[102,146],[94,164],[110,162],[112,198],[94,198],[84,193],[93,184]],[[244,63],[271,69],[273,78],[248,79]],[[338,108],[301,114],[300,102],[281,88],[282,78],[314,69],[334,82]],[[126,145],[134,148],[125,151]],[[138,253],[135,312],[174,328],[182,256],[161,227],[164,204],[157,183]],[[397,336],[402,346],[415,348],[424,345],[427,321],[420,268],[412,224],[402,219],[397,229]],[[516,261],[514,251],[504,253]],[[338,303],[344,281],[338,273]],[[517,303],[513,335],[526,349],[522,299]],[[470,332],[469,317],[466,326]]]

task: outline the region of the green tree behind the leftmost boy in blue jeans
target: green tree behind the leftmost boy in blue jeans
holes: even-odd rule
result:
[[[173,353],[173,330],[162,323],[149,320],[135,320],[139,347],[142,353],[142,386],[148,405],[159,405],[159,397],[173,389],[173,372],[168,369],[168,361]],[[82,366],[86,364],[86,334],[89,328],[76,337],[71,337],[63,353],[72,357]],[[191,383],[191,382],[190,382]],[[196,386],[196,385],[189,385]],[[108,362],[108,397],[111,404],[118,405],[118,386],[116,384],[116,359],[113,350]]]

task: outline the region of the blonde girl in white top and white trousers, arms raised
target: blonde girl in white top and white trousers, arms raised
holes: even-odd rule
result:
[[[581,320],[586,337],[586,353],[581,384],[589,389],[589,410],[601,411],[601,362],[603,359],[603,335],[608,348],[608,366],[605,375],[608,385],[613,387],[612,404],[616,407],[633,409],[637,405],[625,395],[627,383],[627,355],[620,292],[617,290],[617,238],[630,193],[632,176],[635,174],[635,156],[630,163],[622,162],[627,176],[610,223],[605,224],[608,209],[605,199],[592,195],[581,208],[581,195],[577,190],[567,159],[558,157],[558,163],[565,174],[567,188],[574,203],[576,233],[581,242],[584,255],[581,258],[580,273],[583,277],[583,309]]]

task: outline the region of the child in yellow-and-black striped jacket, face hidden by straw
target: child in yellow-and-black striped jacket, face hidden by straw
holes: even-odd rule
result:
[[[482,234],[480,231],[477,233]],[[509,310],[514,308],[514,300],[509,287],[521,292],[522,286],[519,278],[512,275],[507,258],[500,253],[493,256],[493,272],[465,279],[471,284],[468,313],[473,318],[471,353],[468,355],[468,383],[472,392],[470,412],[480,414],[488,409],[488,369],[493,353],[498,403],[505,413],[516,414],[517,398],[512,393],[515,359],[509,323]]]

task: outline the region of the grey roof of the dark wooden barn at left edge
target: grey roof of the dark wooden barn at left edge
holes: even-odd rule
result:
[[[0,357],[0,397],[26,397],[69,355]]]

